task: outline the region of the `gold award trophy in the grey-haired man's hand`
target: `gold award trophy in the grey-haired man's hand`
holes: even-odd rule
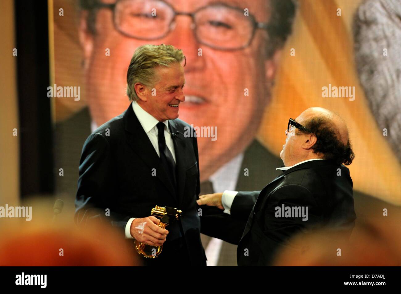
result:
[[[161,207],[157,205],[155,208],[152,208],[152,211],[150,212],[152,216],[160,218],[160,222],[158,224],[160,228],[166,228],[166,226],[171,224],[174,220],[178,220],[178,217],[181,215],[181,213],[181,210],[177,210],[177,208],[168,206]],[[162,252],[163,245],[152,246],[135,240],[135,249],[145,258],[156,258]]]

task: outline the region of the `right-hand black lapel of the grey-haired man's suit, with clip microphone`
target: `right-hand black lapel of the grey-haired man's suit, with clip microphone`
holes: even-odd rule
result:
[[[174,153],[176,156],[176,182],[177,182],[177,198],[178,198],[178,207],[182,202],[182,198],[184,196],[184,187],[185,187],[185,175],[186,175],[186,164],[185,164],[185,150],[186,150],[186,142],[184,140],[184,134],[178,132],[178,125],[175,120],[168,121],[168,128],[170,129],[171,134],[176,134],[173,136],[172,140],[174,143]]]

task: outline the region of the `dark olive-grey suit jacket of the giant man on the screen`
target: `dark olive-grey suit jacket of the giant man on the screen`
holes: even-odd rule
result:
[[[85,142],[87,136],[91,133],[91,117],[87,107],[83,108],[67,120],[56,124],[55,128],[55,181],[56,181],[56,194],[57,198],[65,200],[63,213],[69,212],[67,206],[71,203],[77,192],[77,178],[79,155],[81,154],[82,144]],[[283,164],[282,160],[272,154],[257,140],[254,140],[251,145],[244,152],[241,170],[237,181],[237,191],[252,191],[261,190],[267,182],[275,178],[281,171],[275,170],[278,166]],[[64,176],[59,176],[59,168],[63,168]],[[244,169],[248,168],[249,175],[244,174]],[[223,191],[216,191],[223,192]],[[369,196],[360,191],[354,190],[355,212],[358,218],[356,222],[363,222],[365,219],[372,218],[373,216],[381,215],[383,208],[391,209],[394,207],[392,204],[384,202],[378,198]],[[220,234],[218,228],[207,230],[208,225],[214,223],[213,218],[204,218],[202,232],[210,236],[219,238]],[[245,228],[245,222],[243,228]],[[233,244],[238,244],[241,239],[241,234],[236,234],[228,240]],[[227,239],[225,239],[227,240]],[[236,265],[236,251],[237,246],[223,243],[221,250],[221,257],[218,265]]]

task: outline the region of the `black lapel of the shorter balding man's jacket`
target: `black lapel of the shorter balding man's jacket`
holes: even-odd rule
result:
[[[292,172],[296,172],[297,170],[303,170],[303,169],[308,169],[308,168],[317,167],[317,166],[330,165],[330,164],[334,164],[334,163],[331,160],[313,160],[313,161],[304,162],[303,164],[300,164],[300,165],[294,166],[293,168],[285,170],[282,174],[280,174],[274,180],[272,180],[269,184],[267,184],[261,190],[261,192],[259,193],[259,196],[257,196],[256,202],[253,205],[251,214],[249,215],[248,222],[247,222],[247,225],[245,226],[245,230],[243,232],[241,240],[251,229],[253,214],[255,212],[259,211],[260,204],[261,204],[261,202],[263,202],[263,200],[265,200],[265,197],[267,197],[275,188],[277,188],[280,179],[283,179],[286,175],[288,175]]]

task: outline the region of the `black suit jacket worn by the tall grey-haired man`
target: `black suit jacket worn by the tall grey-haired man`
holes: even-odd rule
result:
[[[201,220],[196,208],[200,190],[196,137],[184,137],[184,127],[190,126],[182,120],[168,122],[170,132],[177,134],[173,138],[176,187],[168,180],[160,157],[130,104],[123,114],[95,130],[83,145],[75,221],[85,224],[106,219],[124,234],[131,217],[147,217],[156,205],[178,208],[182,216],[167,227],[169,234],[160,257],[178,254],[169,244],[179,240],[180,244],[185,242],[186,251],[171,258],[184,264],[205,265]],[[105,216],[107,208],[110,216]]]

